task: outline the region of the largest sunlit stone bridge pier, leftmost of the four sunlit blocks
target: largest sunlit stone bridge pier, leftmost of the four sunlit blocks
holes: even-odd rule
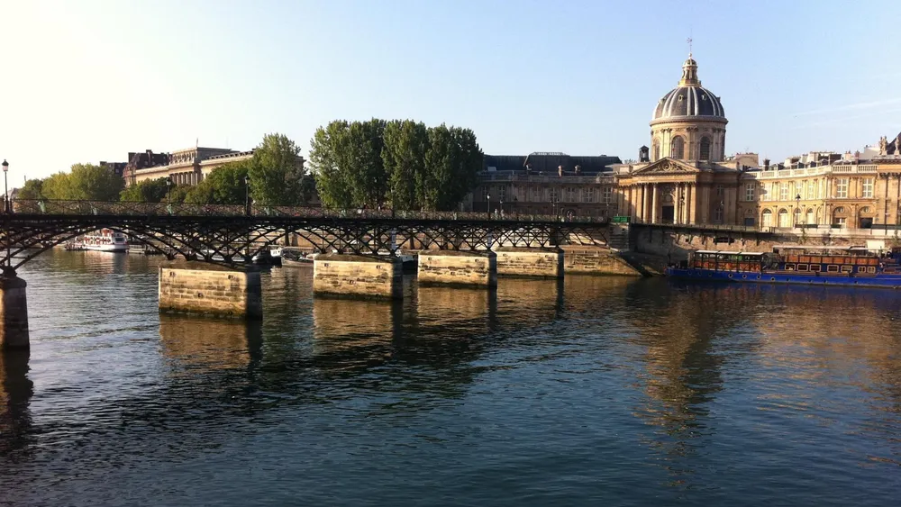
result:
[[[262,319],[259,268],[159,267],[159,311]]]

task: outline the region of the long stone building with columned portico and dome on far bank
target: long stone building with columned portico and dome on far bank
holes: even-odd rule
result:
[[[901,133],[863,152],[811,152],[760,167],[754,153],[725,157],[727,123],[689,55],[654,108],[651,148],[642,146],[637,161],[487,156],[469,209],[754,228],[901,225]]]

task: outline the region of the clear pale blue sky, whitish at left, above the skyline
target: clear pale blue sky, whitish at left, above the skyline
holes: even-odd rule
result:
[[[371,117],[637,158],[689,36],[727,153],[853,151],[901,131],[899,26],[876,0],[0,0],[0,158],[17,186]]]

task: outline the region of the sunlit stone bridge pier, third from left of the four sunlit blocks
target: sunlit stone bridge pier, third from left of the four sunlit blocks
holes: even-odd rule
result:
[[[419,283],[497,286],[497,256],[492,251],[423,250],[419,252]]]

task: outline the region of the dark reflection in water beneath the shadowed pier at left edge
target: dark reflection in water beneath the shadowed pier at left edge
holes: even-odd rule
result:
[[[27,350],[0,351],[0,456],[20,461],[33,441]]]

